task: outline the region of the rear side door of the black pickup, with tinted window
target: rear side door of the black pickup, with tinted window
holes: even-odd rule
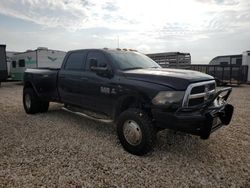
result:
[[[63,103],[81,106],[81,82],[83,81],[86,51],[70,53],[59,71],[58,89]]]

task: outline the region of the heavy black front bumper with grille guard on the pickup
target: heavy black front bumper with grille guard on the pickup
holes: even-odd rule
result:
[[[196,107],[181,107],[176,112],[153,108],[152,114],[157,127],[198,135],[207,139],[209,135],[231,121],[234,107],[226,103],[231,88],[218,91],[214,98]],[[226,92],[223,97],[221,93]],[[218,101],[220,103],[218,104]]]

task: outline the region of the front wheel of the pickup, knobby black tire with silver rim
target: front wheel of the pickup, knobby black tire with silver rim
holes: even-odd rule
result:
[[[128,109],[117,120],[117,134],[123,148],[134,155],[153,149],[156,130],[152,120],[140,109]]]

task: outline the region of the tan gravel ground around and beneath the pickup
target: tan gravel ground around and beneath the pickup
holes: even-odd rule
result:
[[[0,88],[0,187],[250,187],[250,86],[233,88],[232,123],[208,140],[162,131],[155,150],[133,156],[114,125],[52,104],[27,115],[22,86]]]

